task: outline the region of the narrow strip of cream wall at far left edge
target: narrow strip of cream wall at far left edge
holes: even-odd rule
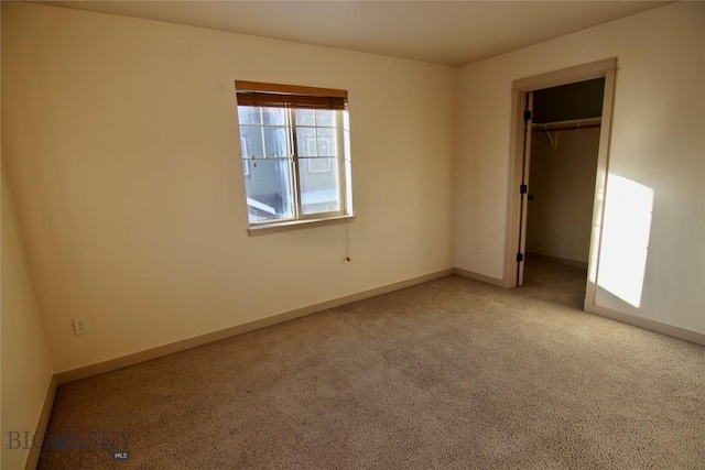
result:
[[[30,276],[12,189],[2,168],[2,468],[24,468],[29,450],[9,431],[36,430],[53,369]],[[13,435],[17,436],[17,435]]]

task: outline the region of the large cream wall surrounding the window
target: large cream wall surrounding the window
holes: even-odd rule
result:
[[[454,68],[2,9],[3,147],[56,372],[453,266]],[[348,90],[354,221],[248,236],[236,79]]]

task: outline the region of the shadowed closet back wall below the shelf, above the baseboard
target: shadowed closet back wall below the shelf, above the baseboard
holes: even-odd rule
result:
[[[599,128],[534,132],[527,253],[584,263],[590,248]]]

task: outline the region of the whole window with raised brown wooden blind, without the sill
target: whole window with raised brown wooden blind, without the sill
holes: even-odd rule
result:
[[[347,91],[236,81],[251,227],[351,215]]]

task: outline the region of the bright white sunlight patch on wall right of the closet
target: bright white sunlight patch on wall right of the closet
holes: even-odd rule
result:
[[[653,189],[609,175],[597,284],[634,307],[641,305],[652,208]]]

